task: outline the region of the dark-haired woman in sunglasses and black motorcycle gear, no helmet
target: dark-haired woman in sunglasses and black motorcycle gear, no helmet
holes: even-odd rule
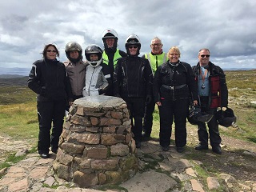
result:
[[[28,86],[38,94],[38,154],[42,158],[49,158],[50,146],[55,154],[58,151],[66,103],[67,100],[72,101],[72,92],[65,66],[56,58],[59,57],[57,47],[53,44],[46,45],[42,57],[42,60],[34,62],[32,66]]]

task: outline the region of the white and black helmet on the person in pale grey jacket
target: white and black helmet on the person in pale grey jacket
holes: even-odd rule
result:
[[[96,67],[99,66],[102,62],[102,49],[97,45],[90,45],[86,47],[85,50],[86,54],[86,60],[90,64],[90,66]],[[98,60],[97,61],[91,61],[90,60],[90,54],[97,54]]]

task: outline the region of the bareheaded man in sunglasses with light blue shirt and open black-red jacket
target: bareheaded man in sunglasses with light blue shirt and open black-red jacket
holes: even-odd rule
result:
[[[210,62],[210,50],[204,48],[199,50],[198,65],[193,66],[194,74],[198,83],[198,98],[202,112],[214,114],[210,122],[207,122],[209,128],[210,146],[216,154],[222,154],[220,143],[222,138],[218,131],[218,122],[215,114],[220,106],[222,110],[226,110],[228,103],[228,90],[226,86],[226,75],[223,70]],[[198,123],[199,145],[195,150],[208,149],[208,133],[206,123]]]

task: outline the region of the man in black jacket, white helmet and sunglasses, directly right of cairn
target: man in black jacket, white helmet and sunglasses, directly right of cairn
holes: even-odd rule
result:
[[[138,57],[141,42],[136,34],[126,38],[126,58],[118,59],[114,70],[114,96],[121,97],[130,110],[132,132],[137,148],[142,142],[142,118],[145,101],[150,102],[153,74],[150,62]]]

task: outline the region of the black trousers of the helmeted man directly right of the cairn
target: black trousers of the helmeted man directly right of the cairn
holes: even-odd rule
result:
[[[136,142],[142,141],[142,118],[145,109],[145,98],[131,98],[126,97],[123,100],[127,104],[130,111],[131,130],[134,133]]]

